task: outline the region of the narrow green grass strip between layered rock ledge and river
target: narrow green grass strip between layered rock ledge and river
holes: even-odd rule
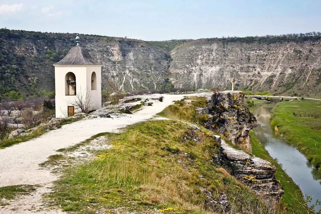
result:
[[[303,199],[302,192],[297,184],[287,175],[282,167],[275,161],[264,146],[260,144],[260,141],[254,135],[254,130],[250,130],[250,136],[252,138],[252,155],[262,158],[271,162],[276,167],[274,174],[275,178],[279,181],[284,189],[282,195],[282,202],[286,205],[291,213],[305,213],[306,205]],[[292,212],[293,211],[293,212]]]

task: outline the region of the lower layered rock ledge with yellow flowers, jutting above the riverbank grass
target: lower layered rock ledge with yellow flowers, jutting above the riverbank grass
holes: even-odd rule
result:
[[[284,190],[274,177],[276,168],[270,162],[231,148],[221,141],[225,167],[242,183],[249,186],[268,205],[278,202]]]

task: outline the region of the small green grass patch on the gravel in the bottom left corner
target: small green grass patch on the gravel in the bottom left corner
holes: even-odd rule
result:
[[[14,199],[21,195],[27,195],[35,191],[35,185],[14,185],[0,187],[0,206],[9,205],[5,200]]]

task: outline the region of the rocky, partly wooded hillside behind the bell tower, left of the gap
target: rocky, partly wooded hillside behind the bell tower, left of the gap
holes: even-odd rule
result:
[[[121,90],[163,90],[169,55],[140,40],[80,35],[81,46],[103,64],[107,79]],[[54,67],[75,45],[75,34],[0,29],[0,94],[11,90],[33,95],[54,90]]]

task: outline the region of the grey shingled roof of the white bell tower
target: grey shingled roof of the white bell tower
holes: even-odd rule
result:
[[[81,46],[75,46],[70,49],[68,54],[54,65],[101,65],[95,61],[88,51]]]

